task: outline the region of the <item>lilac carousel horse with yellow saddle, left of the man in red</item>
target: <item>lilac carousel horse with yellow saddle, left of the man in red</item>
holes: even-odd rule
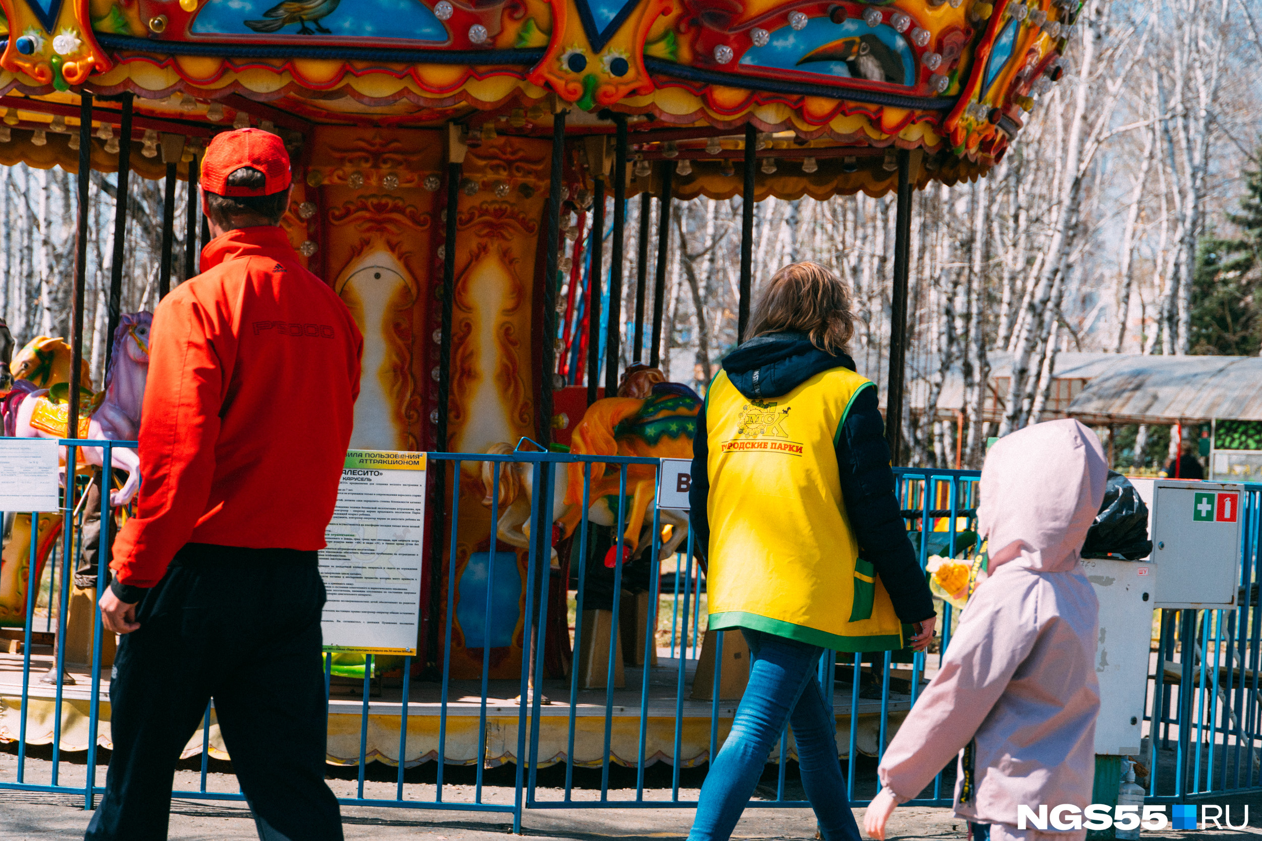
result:
[[[115,441],[135,440],[140,431],[140,407],[144,402],[145,380],[149,374],[149,328],[151,324],[153,315],[150,313],[127,313],[120,320],[114,332],[114,349],[110,369],[105,376],[105,390],[93,395],[90,385],[78,395],[80,438]],[[59,339],[57,340],[59,342]],[[16,364],[15,361],[15,368]],[[68,363],[66,368],[69,369]],[[52,371],[50,367],[49,371]],[[18,371],[14,373],[16,374]],[[85,381],[91,383],[86,377]],[[24,395],[18,405],[10,409],[10,414],[14,417],[14,434],[19,438],[66,436],[69,414],[68,383],[54,382],[47,388]],[[122,488],[110,492],[110,504],[125,506],[140,489],[140,456],[134,449],[121,446],[114,448],[111,453],[111,465],[125,470],[127,480]],[[105,458],[102,448],[97,446],[82,448],[80,455],[83,463],[97,467],[102,465]]]

